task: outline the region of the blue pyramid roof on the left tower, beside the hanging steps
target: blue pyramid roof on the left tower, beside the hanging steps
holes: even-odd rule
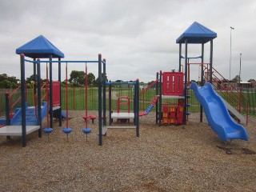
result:
[[[25,54],[29,58],[49,58],[50,55],[53,58],[64,58],[62,51],[42,35],[16,49],[16,54]]]

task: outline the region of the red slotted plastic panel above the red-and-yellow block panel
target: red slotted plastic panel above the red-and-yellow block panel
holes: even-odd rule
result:
[[[162,73],[162,94],[182,96],[184,74],[182,72]]]

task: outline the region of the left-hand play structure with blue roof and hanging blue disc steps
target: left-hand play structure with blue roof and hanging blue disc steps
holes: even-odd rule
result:
[[[32,46],[32,48],[31,48]],[[49,49],[49,47],[51,49]],[[38,137],[42,137],[42,118],[46,117],[47,110],[49,110],[50,114],[50,129],[53,129],[53,111],[58,110],[58,119],[59,119],[59,126],[62,126],[62,118],[65,116],[66,118],[66,128],[63,129],[63,132],[65,134],[70,134],[72,129],[68,127],[68,110],[66,111],[66,114],[63,114],[62,112],[62,106],[61,106],[61,90],[60,90],[60,82],[61,82],[61,64],[62,63],[98,63],[98,136],[99,136],[99,145],[102,146],[102,131],[106,131],[106,83],[103,83],[102,87],[102,80],[103,82],[106,82],[106,60],[102,60],[102,55],[98,54],[98,60],[95,61],[62,61],[61,58],[64,57],[64,54],[60,50],[58,50],[57,47],[55,47],[51,42],[49,42],[46,38],[44,38],[42,35],[39,36],[38,38],[35,38],[34,40],[26,43],[24,46],[18,48],[16,50],[17,54],[20,54],[20,63],[21,63],[21,86],[20,86],[20,93],[21,93],[21,112],[20,112],[20,117],[21,117],[21,125],[19,126],[10,126],[9,124],[6,123],[6,126],[4,126],[0,130],[0,135],[6,135],[7,138],[10,138],[10,136],[22,136],[22,146],[26,146],[26,134],[30,134],[31,132],[34,132],[35,130],[38,130]],[[33,61],[28,60],[25,58],[25,56],[34,58]],[[36,60],[36,58],[49,58],[48,61],[40,61],[39,59]],[[58,61],[52,60],[52,58],[58,58]],[[27,102],[26,102],[26,81],[25,81],[25,62],[30,62],[34,64],[34,81],[36,82],[37,89],[34,90],[34,95],[37,95],[37,97],[34,97],[34,103],[35,106],[32,107],[27,107]],[[42,63],[49,63],[50,64],[50,81],[49,81],[49,108],[48,108],[48,103],[42,103],[42,97],[41,98],[41,70],[40,66]],[[58,63],[58,82],[54,83],[52,80],[52,65],[53,63]],[[103,73],[102,73],[102,65],[103,65]],[[102,74],[103,79],[102,79]],[[37,77],[37,78],[35,78]],[[134,84],[135,88],[135,95],[138,94],[138,80],[136,80]],[[56,86],[55,86],[56,85]],[[58,86],[59,85],[59,86]],[[103,99],[102,99],[102,90],[103,90]],[[46,92],[48,94],[48,91]],[[67,93],[66,93],[67,94]],[[66,95],[67,98],[67,95]],[[137,97],[138,98],[138,97]],[[103,112],[104,112],[104,118],[102,117],[102,100],[103,100]],[[138,99],[135,99],[136,103],[138,103]],[[134,113],[129,113],[130,115],[133,114],[134,122],[135,125],[133,128],[136,128],[136,135],[138,137],[138,104],[136,104],[137,108],[135,108]],[[7,106],[7,104],[6,104]],[[8,104],[9,106],[9,104]],[[67,103],[66,103],[67,106]],[[6,107],[7,109],[8,107]],[[29,113],[27,109],[33,108],[34,113]],[[35,110],[36,109],[36,110]],[[44,111],[42,113],[42,111]],[[34,122],[34,126],[29,126],[27,125],[27,115],[28,114],[33,114],[33,117],[36,119]],[[37,115],[36,115],[37,114]],[[43,115],[42,115],[43,114]],[[17,114],[14,114],[14,117]],[[6,110],[6,122],[9,122],[8,116],[10,116],[10,111]],[[88,115],[86,114],[86,117]],[[120,117],[123,118],[123,117]],[[131,118],[131,117],[130,117]],[[102,121],[104,127],[102,127]],[[108,127],[110,128],[110,127]],[[104,129],[104,130],[103,130]],[[90,133],[88,131],[87,124],[86,128],[82,129],[82,132],[86,134],[86,139],[87,139],[87,134]],[[46,129],[46,134],[50,134],[49,129]]]

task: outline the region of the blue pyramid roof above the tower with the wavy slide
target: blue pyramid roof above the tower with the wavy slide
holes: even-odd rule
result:
[[[194,22],[177,38],[176,43],[185,43],[186,38],[188,43],[206,43],[210,42],[211,39],[217,38],[217,34],[200,23]]]

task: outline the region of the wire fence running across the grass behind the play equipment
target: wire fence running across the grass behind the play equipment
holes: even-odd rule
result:
[[[142,91],[143,89],[140,89]],[[0,90],[0,117],[6,115],[6,96],[5,93],[8,91],[12,93],[14,90]],[[69,87],[68,91],[68,109],[69,110],[86,110],[86,90],[85,88],[79,87]],[[140,111],[146,110],[150,103],[154,99],[156,91],[154,88],[150,88],[145,94],[140,96],[139,109]],[[190,98],[188,103],[190,103],[189,110],[191,112],[199,112],[200,104],[194,96],[194,91],[189,90]],[[243,88],[242,94],[248,98],[249,101],[249,114],[256,115],[256,88]],[[134,109],[134,88],[122,88],[122,87],[112,87],[111,91],[111,109],[117,110],[117,99],[120,96],[128,96],[130,98],[130,110]],[[20,92],[14,95],[14,100],[20,97]],[[178,102],[174,99],[165,102]],[[34,106],[34,90],[27,90],[27,105]],[[15,108],[21,107],[21,102],[18,102]],[[66,110],[66,90],[62,88],[62,109]],[[109,109],[109,90],[106,88],[106,109]],[[98,87],[88,88],[88,110],[98,110]],[[120,110],[127,111],[127,105],[120,105]],[[155,109],[153,109],[155,110]],[[12,111],[14,112],[14,111]]]

